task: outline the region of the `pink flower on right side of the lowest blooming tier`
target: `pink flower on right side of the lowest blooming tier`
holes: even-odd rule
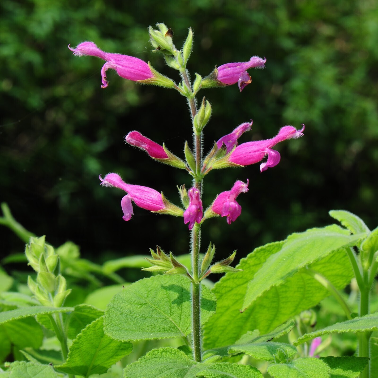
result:
[[[211,210],[215,212],[215,214],[227,217],[227,223],[231,225],[231,222],[235,222],[236,218],[242,213],[242,206],[237,203],[236,197],[240,193],[248,192],[248,184],[248,179],[247,183],[236,181],[230,191],[218,194],[211,205]]]

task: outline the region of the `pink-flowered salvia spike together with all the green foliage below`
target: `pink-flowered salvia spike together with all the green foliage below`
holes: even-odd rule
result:
[[[178,187],[180,206],[160,192],[164,188],[159,184],[158,190],[131,184],[118,173],[100,175],[100,180],[102,186],[125,192],[124,221],[131,220],[133,203],[181,218],[191,232],[190,259],[157,246],[144,262],[135,256],[96,265],[81,259],[71,242],[54,249],[45,237],[26,231],[3,204],[1,223],[27,242],[25,256],[35,273],[26,286],[22,277],[0,271],[0,359],[13,361],[3,363],[0,375],[376,378],[378,228],[370,231],[348,211],[330,211],[341,225],[291,234],[256,248],[236,267],[232,266],[236,251],[216,261],[212,242],[201,247],[201,225],[220,216],[232,228],[242,211],[237,197],[248,192],[249,181],[236,181],[205,204],[204,178],[214,169],[261,162],[263,172],[276,166],[280,154],[273,147],[302,136],[304,125],[299,130],[287,125],[271,139],[238,144],[251,130],[253,122],[247,121],[230,127],[228,135],[217,136],[212,149],[203,153],[204,128],[212,108],[204,97],[197,102],[198,92],[233,84],[242,92],[251,83],[247,70],[263,68],[266,59],[253,56],[246,62],[223,64],[206,77],[195,73],[191,81],[186,67],[192,30],[181,50],[163,23],[150,27],[149,35],[154,52],[178,71],[180,83],[158,73],[150,63],[105,53],[93,42],[69,48],[76,56],[105,60],[102,88],[108,86],[106,73],[111,68],[125,79],[174,89],[187,99],[193,141],[184,144],[183,157],[136,130],[125,137],[153,160],[187,171],[192,184]],[[3,262],[17,258],[11,255]],[[126,283],[116,273],[122,267],[143,267],[151,276]],[[214,273],[226,274],[212,285],[208,277]],[[70,299],[75,290],[79,293],[79,282],[100,287],[101,277],[115,285]],[[349,294],[342,290],[345,287]]]

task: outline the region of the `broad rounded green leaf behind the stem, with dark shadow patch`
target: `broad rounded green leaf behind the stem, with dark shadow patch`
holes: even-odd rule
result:
[[[201,285],[201,324],[215,312],[215,296]],[[192,330],[191,282],[159,275],[139,280],[115,295],[105,311],[105,333],[118,340],[187,336]]]

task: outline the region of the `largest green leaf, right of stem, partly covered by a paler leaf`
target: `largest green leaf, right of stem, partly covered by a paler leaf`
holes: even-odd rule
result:
[[[215,284],[212,291],[217,297],[217,312],[204,325],[206,349],[235,344],[249,330],[259,329],[262,334],[268,333],[329,296],[328,290],[308,276],[306,268],[302,268],[284,284],[266,291],[251,307],[240,313],[248,283],[268,257],[280,251],[283,243],[256,248],[237,265],[237,268],[243,269],[242,272],[227,273]],[[329,254],[310,267],[327,277],[338,289],[344,288],[353,277],[352,266],[344,250]]]

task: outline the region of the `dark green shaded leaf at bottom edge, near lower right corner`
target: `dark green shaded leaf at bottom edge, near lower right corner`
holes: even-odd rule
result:
[[[357,378],[369,362],[367,357],[321,357],[330,368],[330,378]],[[375,375],[370,375],[372,378]]]

